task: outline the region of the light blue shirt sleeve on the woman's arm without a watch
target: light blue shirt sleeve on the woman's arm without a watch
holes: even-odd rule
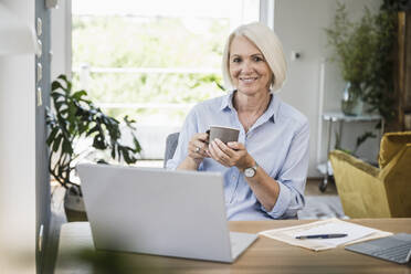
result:
[[[175,155],[167,161],[166,169],[176,170],[181,161],[186,159],[188,155],[188,144],[196,133],[198,133],[198,120],[196,108],[192,108],[186,117],[180,135],[178,137]]]

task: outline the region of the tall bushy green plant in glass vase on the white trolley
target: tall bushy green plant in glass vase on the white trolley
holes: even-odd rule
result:
[[[325,31],[335,53],[330,60],[337,62],[347,82],[341,110],[359,115],[365,102],[369,105],[368,112],[378,110],[388,120],[393,115],[394,14],[383,6],[371,14],[366,7],[361,20],[351,22],[345,4],[337,4],[333,25]]]

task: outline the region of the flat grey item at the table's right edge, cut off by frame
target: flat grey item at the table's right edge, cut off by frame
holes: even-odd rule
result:
[[[346,250],[407,264],[411,257],[411,234],[399,233],[392,236],[347,245]]]

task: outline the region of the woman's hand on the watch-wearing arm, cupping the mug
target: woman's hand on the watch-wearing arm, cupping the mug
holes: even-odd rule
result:
[[[226,145],[220,139],[210,143],[209,154],[224,167],[236,167],[241,171],[254,165],[254,159],[246,151],[245,146],[238,141],[230,141]]]

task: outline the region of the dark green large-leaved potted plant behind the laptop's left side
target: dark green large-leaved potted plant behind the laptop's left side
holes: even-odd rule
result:
[[[54,108],[46,108],[50,147],[49,170],[51,176],[66,189],[64,208],[68,221],[86,220],[82,189],[75,176],[75,165],[95,151],[108,151],[112,160],[134,164],[141,147],[134,134],[135,120],[124,117],[125,128],[133,144],[122,140],[120,123],[107,116],[86,98],[85,91],[72,92],[72,83],[60,75],[52,83],[51,98]],[[89,139],[85,148],[80,145]],[[97,156],[96,162],[107,164]]]

